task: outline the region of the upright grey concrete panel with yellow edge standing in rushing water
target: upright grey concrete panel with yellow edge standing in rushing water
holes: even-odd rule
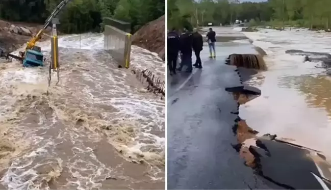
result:
[[[105,25],[104,49],[116,60],[119,67],[130,67],[131,34],[111,25]]]

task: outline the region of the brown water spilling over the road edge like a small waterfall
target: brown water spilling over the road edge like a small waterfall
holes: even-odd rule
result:
[[[254,54],[232,54],[227,58],[226,64],[248,69],[267,70],[262,56]]]

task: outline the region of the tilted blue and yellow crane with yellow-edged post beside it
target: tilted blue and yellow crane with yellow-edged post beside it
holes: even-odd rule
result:
[[[39,46],[36,46],[36,43],[41,39],[44,31],[48,26],[52,26],[52,35],[51,38],[51,44],[52,44],[52,64],[50,64],[50,67],[52,69],[58,68],[58,38],[57,38],[57,29],[56,24],[58,23],[58,20],[55,18],[59,12],[70,2],[71,0],[63,0],[52,12],[52,14],[49,15],[49,17],[46,19],[46,22],[43,26],[43,28],[29,41],[27,42],[27,47],[25,51],[20,51],[19,56],[13,55],[12,53],[6,53],[3,49],[0,48],[0,57],[5,57],[6,59],[13,58],[16,60],[19,60],[22,62],[23,67],[38,67],[43,66],[44,62],[44,55],[41,52],[41,48]],[[57,20],[57,21],[55,21]]]

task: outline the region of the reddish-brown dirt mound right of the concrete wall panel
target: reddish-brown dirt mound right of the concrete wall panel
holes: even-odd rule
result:
[[[165,16],[148,22],[133,35],[133,45],[158,53],[165,60]]]

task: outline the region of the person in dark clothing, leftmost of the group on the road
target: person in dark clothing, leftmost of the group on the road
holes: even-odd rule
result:
[[[176,74],[177,56],[180,50],[180,37],[176,33],[174,28],[171,30],[171,32],[168,33],[167,37],[168,37],[167,39],[168,66],[169,66],[170,75],[172,75],[172,74]]]

